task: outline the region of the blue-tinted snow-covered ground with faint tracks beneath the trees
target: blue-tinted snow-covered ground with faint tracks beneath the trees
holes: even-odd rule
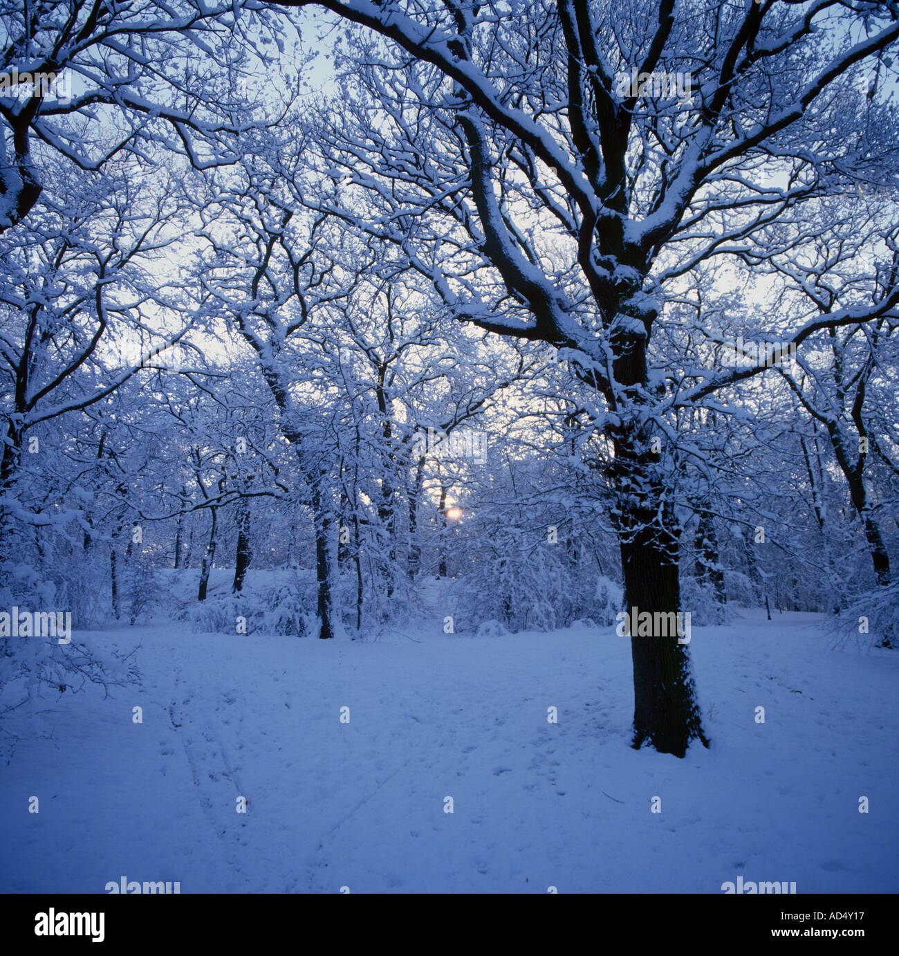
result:
[[[812,615],[694,627],[713,748],[678,760],[628,746],[630,646],[613,628],[441,630],[76,633],[139,643],[142,684],[60,695],[50,736],[8,725],[0,890],[126,876],[182,893],[720,893],[740,875],[897,889],[899,654],[834,650]]]

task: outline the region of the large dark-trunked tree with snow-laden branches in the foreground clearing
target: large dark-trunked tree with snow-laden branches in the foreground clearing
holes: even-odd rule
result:
[[[680,527],[653,438],[674,442],[668,411],[714,403],[767,363],[666,377],[653,348],[667,294],[805,200],[891,182],[895,124],[859,79],[899,40],[896,4],[317,6],[358,28],[323,150],[340,205],[460,320],[570,362],[609,445],[626,601],[677,612]],[[897,301],[892,286],[785,338],[799,346]],[[687,649],[631,643],[634,745],[683,755],[704,740]]]

